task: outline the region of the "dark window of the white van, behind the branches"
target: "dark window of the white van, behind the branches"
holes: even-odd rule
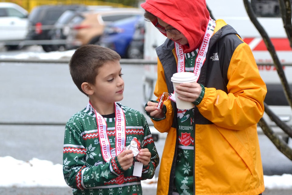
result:
[[[292,3],[292,0],[291,0]],[[251,0],[252,9],[257,17],[281,17],[278,0]]]

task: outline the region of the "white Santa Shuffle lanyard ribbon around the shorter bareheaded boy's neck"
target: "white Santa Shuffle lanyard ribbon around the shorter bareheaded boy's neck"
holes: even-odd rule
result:
[[[90,102],[89,102],[90,103]],[[90,103],[91,105],[91,103]],[[92,106],[92,105],[91,105]],[[92,106],[93,108],[93,106]],[[93,108],[94,109],[94,108]],[[112,158],[112,154],[110,152],[110,143],[109,138],[107,136],[107,124],[106,120],[94,109],[96,115],[97,122],[97,131],[99,137],[99,143],[101,146],[101,152],[103,154],[103,159],[108,162]],[[123,109],[115,103],[115,134],[116,134],[116,156],[123,151],[123,147],[126,146],[126,120]]]

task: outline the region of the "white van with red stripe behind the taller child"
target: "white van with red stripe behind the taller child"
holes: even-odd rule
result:
[[[243,1],[235,0],[206,0],[207,6],[210,9],[214,19],[224,19],[230,24],[249,44],[254,54],[255,60],[258,63],[259,72],[266,82],[268,93],[266,95],[266,103],[270,108],[283,120],[292,126],[292,111],[288,106],[287,99],[283,92],[279,76],[273,66],[273,60],[267,48],[250,21]],[[276,53],[282,62],[286,77],[292,88],[292,49],[290,48],[289,40],[283,28],[282,18],[280,18],[280,8],[278,0],[251,0],[254,12],[256,13],[259,22],[265,28],[272,43],[276,49]],[[144,41],[144,59],[157,61],[155,48],[165,41],[165,36],[162,35],[153,24],[145,23],[145,41]],[[145,65],[144,75],[144,102],[150,99],[156,99],[153,95],[157,79],[157,66]],[[144,104],[145,105],[145,104]],[[269,120],[267,115],[264,115],[267,122],[274,126],[275,124]],[[277,129],[278,132],[282,132]]]

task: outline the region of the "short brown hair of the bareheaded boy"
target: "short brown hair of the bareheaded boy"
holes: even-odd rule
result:
[[[81,46],[76,49],[69,62],[72,80],[84,93],[81,88],[82,83],[88,82],[94,85],[98,69],[106,62],[120,59],[120,55],[109,48],[92,44]]]

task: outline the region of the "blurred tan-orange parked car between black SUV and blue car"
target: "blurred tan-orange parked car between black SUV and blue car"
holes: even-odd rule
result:
[[[114,8],[83,13],[83,20],[70,29],[66,49],[75,49],[86,44],[98,44],[106,24],[132,16],[141,16],[143,13],[141,9],[137,8]]]

